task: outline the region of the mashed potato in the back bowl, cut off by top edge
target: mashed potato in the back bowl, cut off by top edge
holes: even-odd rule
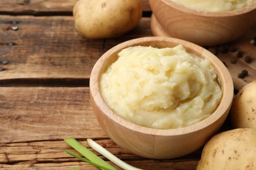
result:
[[[184,7],[195,9],[199,11],[225,11],[242,9],[250,5],[255,0],[171,0]]]

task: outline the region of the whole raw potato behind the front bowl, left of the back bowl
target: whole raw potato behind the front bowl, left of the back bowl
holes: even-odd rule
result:
[[[79,0],[74,6],[75,28],[89,39],[119,37],[139,24],[140,0]]]

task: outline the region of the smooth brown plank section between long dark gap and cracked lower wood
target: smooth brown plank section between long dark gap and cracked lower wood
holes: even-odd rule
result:
[[[0,143],[106,138],[89,88],[1,88]]]

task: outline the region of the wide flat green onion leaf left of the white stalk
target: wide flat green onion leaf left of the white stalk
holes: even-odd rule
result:
[[[116,170],[115,167],[110,165],[108,162],[102,160],[100,157],[96,156],[96,154],[91,152],[91,150],[89,150],[88,148],[83,146],[81,143],[77,142],[74,138],[72,138],[72,137],[66,138],[66,139],[64,139],[64,141],[66,143],[68,143],[70,146],[72,146],[72,148],[77,150],[77,152],[79,152],[80,154],[85,156],[85,158],[87,158],[88,160],[90,160],[98,165],[101,165],[102,167],[105,167],[107,169]]]

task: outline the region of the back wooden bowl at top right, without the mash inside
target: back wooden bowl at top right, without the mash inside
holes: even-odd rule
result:
[[[256,1],[243,9],[224,12],[200,12],[171,0],[150,0],[150,7],[154,36],[175,37],[201,46],[234,41],[256,22]]]

